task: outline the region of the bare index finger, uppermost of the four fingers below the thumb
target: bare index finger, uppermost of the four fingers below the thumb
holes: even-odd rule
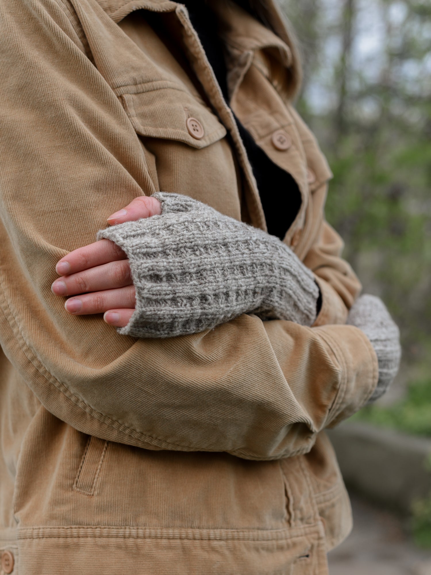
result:
[[[65,255],[55,269],[59,275],[70,275],[120,259],[127,259],[127,256],[117,244],[111,240],[99,240]]]

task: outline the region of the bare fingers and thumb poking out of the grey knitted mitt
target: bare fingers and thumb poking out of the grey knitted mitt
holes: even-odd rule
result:
[[[135,198],[107,219],[109,225],[136,221],[161,213],[156,198]],[[64,307],[72,315],[104,313],[106,323],[124,327],[134,312],[135,290],[125,252],[113,241],[102,239],[74,250],[56,265],[61,278],[51,289],[56,296],[75,296]]]

